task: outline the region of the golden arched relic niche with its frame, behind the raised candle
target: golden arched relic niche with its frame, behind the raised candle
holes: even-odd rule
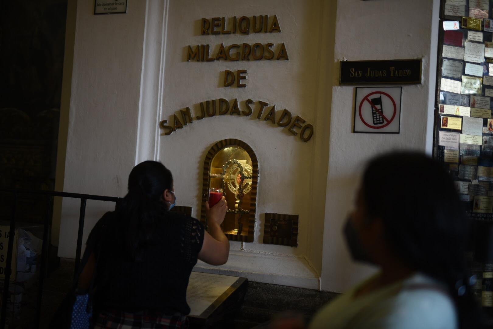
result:
[[[214,144],[204,160],[202,223],[206,224],[209,187],[222,187],[229,208],[221,225],[224,234],[229,240],[253,242],[257,184],[258,161],[250,146],[237,139]]]

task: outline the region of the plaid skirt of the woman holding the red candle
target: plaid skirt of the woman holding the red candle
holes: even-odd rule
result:
[[[111,310],[101,312],[94,329],[188,329],[188,318],[182,314],[165,315],[155,311],[136,313]]]

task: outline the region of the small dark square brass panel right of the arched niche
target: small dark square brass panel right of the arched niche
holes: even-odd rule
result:
[[[264,243],[298,246],[298,215],[265,214]]]

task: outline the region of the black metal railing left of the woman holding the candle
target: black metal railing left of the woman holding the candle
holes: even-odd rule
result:
[[[51,231],[51,219],[52,219],[52,209],[53,209],[53,198],[55,196],[68,197],[80,199],[80,212],[79,212],[79,228],[77,232],[77,249],[75,252],[75,268],[74,276],[76,275],[79,264],[80,255],[82,251],[82,234],[84,233],[84,219],[86,211],[87,200],[99,200],[108,202],[118,202],[121,198],[111,197],[111,196],[101,196],[101,195],[91,195],[91,194],[79,194],[79,193],[68,193],[68,192],[57,192],[57,191],[32,191],[32,190],[22,190],[22,189],[2,189],[0,188],[0,193],[7,193],[13,195],[12,202],[12,217],[10,218],[10,227],[8,235],[8,248],[5,264],[5,278],[3,283],[3,295],[1,303],[1,313],[0,313],[0,329],[5,328],[5,321],[7,315],[7,301],[9,295],[9,284],[10,284],[10,274],[12,272],[12,253],[14,247],[14,232],[15,232],[15,221],[16,221],[16,208],[17,199],[19,195],[46,195],[47,196],[47,207],[44,216],[43,223],[43,244],[41,247],[41,264],[39,268],[39,286],[36,301],[36,324],[35,326],[39,328],[39,320],[41,317],[41,302],[43,294],[43,280],[47,276],[48,270],[48,249],[50,244],[50,231]]]

